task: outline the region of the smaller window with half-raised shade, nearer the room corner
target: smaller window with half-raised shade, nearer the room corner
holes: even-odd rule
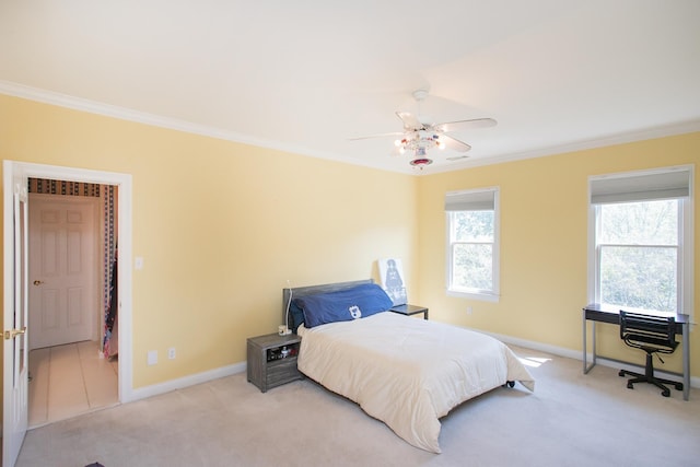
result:
[[[495,302],[499,294],[499,189],[445,195],[447,292]]]

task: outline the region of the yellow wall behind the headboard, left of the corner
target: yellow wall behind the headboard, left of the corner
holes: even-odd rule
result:
[[[133,271],[135,388],[244,362],[245,339],[282,323],[288,280],[378,280],[387,256],[416,270],[408,175],[5,95],[0,157],[132,174],[133,255],[144,258]],[[159,364],[145,364],[149,350]]]

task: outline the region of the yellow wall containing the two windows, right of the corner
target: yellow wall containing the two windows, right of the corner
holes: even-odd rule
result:
[[[580,351],[586,304],[588,176],[698,164],[700,133],[529,159],[419,179],[419,296],[434,319]],[[445,294],[446,191],[501,189],[501,297],[486,303]],[[696,185],[696,194],[698,192]],[[700,253],[700,202],[695,197],[695,249]],[[696,255],[695,289],[700,280]],[[700,294],[695,295],[696,319]],[[472,314],[467,314],[467,306]],[[642,362],[618,328],[598,325],[600,353]],[[691,332],[691,373],[700,375],[700,338]],[[680,371],[680,352],[665,369]],[[658,365],[661,367],[661,365]]]

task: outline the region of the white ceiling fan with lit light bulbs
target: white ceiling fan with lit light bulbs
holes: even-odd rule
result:
[[[428,97],[428,91],[413,91],[413,98],[416,100],[416,102],[418,102],[419,112],[420,104],[425,100],[425,97]],[[410,164],[422,168],[424,165],[430,165],[433,163],[432,159],[428,156],[428,151],[430,149],[447,148],[457,152],[467,152],[471,149],[471,147],[466,142],[447,135],[448,132],[457,130],[488,128],[497,125],[497,121],[492,118],[475,118],[469,120],[456,120],[434,124],[431,121],[425,121],[427,119],[424,117],[421,118],[420,116],[413,115],[410,112],[397,112],[396,116],[404,122],[404,131],[371,135],[366,137],[351,138],[351,140],[398,137],[398,139],[394,141],[394,144],[396,147],[395,152],[398,154],[404,154],[406,152],[412,153]],[[450,159],[456,160],[463,157],[466,157],[466,155]]]

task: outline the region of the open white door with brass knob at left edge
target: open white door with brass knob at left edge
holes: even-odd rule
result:
[[[27,427],[27,190],[26,178],[3,163],[3,421],[2,465],[14,466]],[[11,214],[10,214],[11,213]]]

